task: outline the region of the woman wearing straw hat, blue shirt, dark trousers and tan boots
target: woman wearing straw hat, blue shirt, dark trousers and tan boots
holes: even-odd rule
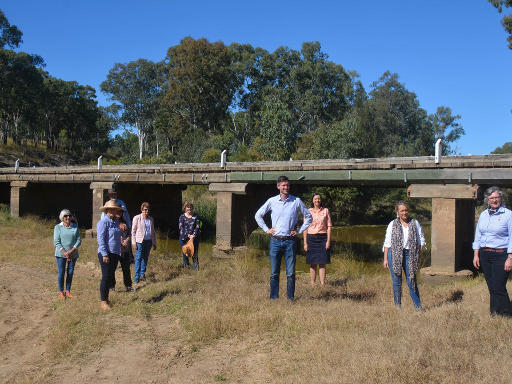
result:
[[[116,218],[116,212],[122,208],[114,200],[109,200],[99,209],[105,212],[105,216],[96,224],[98,260],[101,266],[101,282],[99,285],[100,308],[106,311],[110,309],[110,278],[115,273],[115,266],[117,266],[117,261],[121,254],[121,229]]]

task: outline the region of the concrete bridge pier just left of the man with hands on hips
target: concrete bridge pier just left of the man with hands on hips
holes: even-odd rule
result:
[[[272,194],[275,186],[247,183],[216,183],[209,191],[217,194],[215,257],[230,257],[233,248],[245,245],[258,224],[254,214]]]

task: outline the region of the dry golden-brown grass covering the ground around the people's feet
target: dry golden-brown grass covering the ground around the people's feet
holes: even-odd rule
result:
[[[1,214],[0,262],[55,273],[50,238],[49,223]],[[179,255],[160,250],[150,257],[151,283],[133,295],[113,294],[114,309],[105,314],[97,308],[96,248],[87,239],[80,248],[82,273],[73,283],[80,300],[55,304],[46,348],[54,358],[81,358],[85,364],[91,351],[108,344],[108,333],[141,337],[140,328],[126,324],[157,319],[181,324],[184,332],[173,337],[193,356],[221,340],[249,343],[249,351],[266,355],[264,369],[277,383],[510,382],[512,321],[488,315],[481,278],[421,284],[424,310],[417,313],[406,289],[402,309],[393,306],[389,272],[355,258],[333,260],[347,273],[328,271],[327,287],[315,290],[309,275],[298,273],[297,300],[289,303],[283,276],[281,298],[268,300],[268,261],[254,251],[232,260],[202,258],[194,273],[181,270]],[[229,366],[210,381],[259,382]]]

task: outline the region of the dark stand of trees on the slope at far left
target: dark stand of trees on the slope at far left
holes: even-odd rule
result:
[[[112,124],[94,88],[55,78],[42,57],[14,51],[22,36],[0,10],[0,144],[11,138],[62,152],[106,150]]]

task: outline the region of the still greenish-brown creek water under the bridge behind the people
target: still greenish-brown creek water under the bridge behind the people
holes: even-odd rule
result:
[[[426,251],[422,254],[421,267],[430,265],[431,248],[431,224],[422,223],[427,244]],[[335,273],[336,269],[343,264],[337,263],[340,259],[351,259],[360,262],[369,270],[379,270],[383,259],[382,243],[386,235],[387,225],[356,225],[348,227],[333,227],[331,230],[331,265],[328,266],[329,273]],[[302,238],[300,245],[297,243],[297,270],[307,272],[309,266],[306,264]],[[268,257],[269,236],[262,230],[251,233],[247,239],[247,245],[254,249],[261,250],[263,258]],[[201,234],[200,257],[211,256],[211,247],[215,245],[215,234]],[[163,240],[159,243],[165,252],[181,253],[178,240]],[[339,271],[343,273],[343,271]]]

